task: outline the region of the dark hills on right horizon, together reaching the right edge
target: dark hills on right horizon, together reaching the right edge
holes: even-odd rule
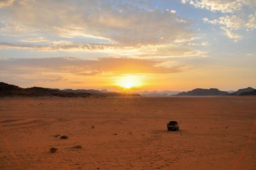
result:
[[[244,89],[239,89],[237,91],[234,91],[232,93],[228,93],[227,91],[220,91],[219,89],[216,88],[210,88],[210,89],[201,89],[201,88],[196,88],[191,91],[183,91],[181,93],[178,93],[175,96],[226,96],[226,95],[254,95],[255,94],[255,89],[253,88],[244,88]]]

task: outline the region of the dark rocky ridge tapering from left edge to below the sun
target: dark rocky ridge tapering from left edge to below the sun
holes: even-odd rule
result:
[[[0,82],[0,97],[141,97],[139,94],[99,91],[95,89],[51,89],[51,88],[20,88],[12,84]]]

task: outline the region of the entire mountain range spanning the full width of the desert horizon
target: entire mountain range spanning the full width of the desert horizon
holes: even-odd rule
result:
[[[0,82],[0,97],[170,97],[170,96],[248,96],[256,95],[256,89],[244,88],[238,89],[228,93],[227,91],[220,91],[216,88],[202,89],[196,88],[191,91],[142,91],[136,93],[118,93],[109,92],[106,89],[51,89],[51,88],[20,88],[12,84]]]

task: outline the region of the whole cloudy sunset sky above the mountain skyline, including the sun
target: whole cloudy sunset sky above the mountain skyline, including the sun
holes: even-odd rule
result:
[[[0,0],[0,81],[22,88],[256,88],[255,0]]]

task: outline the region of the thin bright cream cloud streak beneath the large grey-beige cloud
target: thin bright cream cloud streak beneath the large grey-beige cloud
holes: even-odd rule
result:
[[[40,39],[41,40],[41,39]],[[40,41],[39,40],[39,41]],[[44,40],[44,39],[43,39]],[[25,39],[25,41],[33,42],[34,39]],[[46,41],[46,40],[45,40]],[[191,48],[189,46],[205,45],[205,43],[179,42],[172,45],[145,45],[140,47],[123,47],[121,45],[109,43],[79,43],[58,41],[50,43],[1,43],[0,49],[32,49],[38,51],[101,51],[109,56],[125,56],[131,58],[172,58],[172,57],[188,57],[188,56],[205,56],[205,52]]]

